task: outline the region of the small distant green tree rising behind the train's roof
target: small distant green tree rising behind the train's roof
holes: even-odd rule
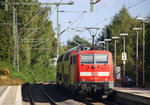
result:
[[[78,45],[82,45],[82,44],[90,44],[90,43],[87,42],[84,38],[79,37],[78,35],[73,37],[72,40],[67,41],[68,49],[76,47]]]

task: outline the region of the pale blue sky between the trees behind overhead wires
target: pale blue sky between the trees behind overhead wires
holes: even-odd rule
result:
[[[70,0],[39,0],[39,2],[66,3]],[[72,0],[74,5],[59,6],[59,23],[61,25],[61,31],[67,29],[61,35],[62,44],[66,44],[67,40],[72,39],[75,35],[80,34],[84,39],[91,41],[91,36],[84,27],[97,27],[100,30],[97,32],[100,34],[101,29],[105,25],[111,22],[112,17],[119,12],[119,10],[125,6],[132,17],[145,18],[150,14],[150,0],[101,0],[94,5],[94,11],[90,12],[90,0]],[[96,1],[96,0],[94,0]],[[52,14],[49,19],[52,20],[54,29],[56,28],[56,6],[52,7]],[[72,12],[70,12],[72,11]],[[83,13],[82,11],[86,11]],[[80,27],[80,28],[77,28]],[[83,27],[83,28],[81,28]],[[80,31],[82,30],[82,31]],[[56,31],[56,30],[55,30]],[[95,30],[93,30],[95,32]]]

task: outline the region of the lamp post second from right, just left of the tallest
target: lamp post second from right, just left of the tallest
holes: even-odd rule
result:
[[[138,31],[142,28],[133,28],[136,30],[136,86],[138,86]]]

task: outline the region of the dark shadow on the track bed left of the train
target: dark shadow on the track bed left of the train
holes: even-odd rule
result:
[[[72,98],[71,94],[65,88],[57,84],[33,84],[25,83],[22,85],[22,97],[24,102],[30,102],[29,89],[31,89],[31,94],[35,102],[37,103],[49,103],[48,98],[42,91],[44,86],[45,92],[51,97],[55,102],[64,102]]]

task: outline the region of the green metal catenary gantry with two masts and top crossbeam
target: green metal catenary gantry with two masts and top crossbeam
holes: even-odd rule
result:
[[[13,37],[14,37],[14,68],[17,67],[19,71],[19,44],[18,44],[18,30],[17,30],[17,12],[14,6],[19,5],[56,5],[57,6],[57,39],[58,39],[58,47],[57,47],[57,56],[59,55],[59,14],[58,14],[58,7],[59,5],[72,5],[73,2],[69,3],[10,3],[8,0],[5,0],[5,11],[8,11],[8,6],[13,6]],[[25,28],[26,25],[23,27]]]

